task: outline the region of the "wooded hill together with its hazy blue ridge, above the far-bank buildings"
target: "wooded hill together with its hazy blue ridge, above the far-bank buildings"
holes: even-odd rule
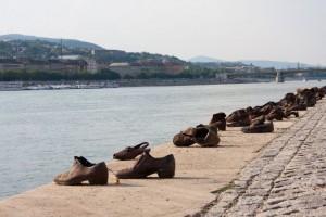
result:
[[[26,58],[26,59],[58,59],[61,55],[78,55],[91,58],[95,50],[95,59],[98,63],[135,62],[152,60],[154,62],[170,61],[185,63],[175,56],[153,54],[148,52],[125,52],[121,50],[105,50],[93,43],[75,39],[50,39],[36,36],[3,35],[0,36],[0,58]]]

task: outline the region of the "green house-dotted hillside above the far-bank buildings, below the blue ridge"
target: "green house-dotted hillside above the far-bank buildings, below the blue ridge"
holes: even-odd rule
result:
[[[3,36],[2,36],[3,37]],[[185,61],[170,55],[162,55],[159,53],[148,53],[148,52],[125,52],[121,50],[96,50],[95,55],[91,55],[91,49],[89,48],[73,48],[63,44],[62,47],[58,43],[50,42],[40,39],[11,39],[1,40],[0,38],[0,58],[20,58],[20,59],[36,59],[36,60],[47,60],[47,59],[59,59],[61,55],[74,56],[74,58],[95,58],[98,63],[120,63],[120,62],[151,62],[167,64],[185,64]]]

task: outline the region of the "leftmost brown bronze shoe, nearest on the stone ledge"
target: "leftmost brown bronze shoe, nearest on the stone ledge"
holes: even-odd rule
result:
[[[92,164],[85,157],[75,156],[72,168],[54,177],[58,184],[73,186],[88,181],[89,184],[108,184],[108,167],[104,162]]]

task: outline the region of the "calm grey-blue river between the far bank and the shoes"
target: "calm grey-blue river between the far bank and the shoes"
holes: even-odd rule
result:
[[[278,101],[325,81],[0,92],[0,200],[52,181],[73,156],[93,163],[170,142],[212,114]]]

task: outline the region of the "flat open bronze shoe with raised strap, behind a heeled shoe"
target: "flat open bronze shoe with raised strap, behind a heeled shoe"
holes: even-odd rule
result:
[[[149,153],[151,149],[146,149],[148,145],[148,142],[142,142],[135,146],[127,146],[126,149],[113,154],[113,158],[120,161],[134,159],[136,156],[142,154],[143,152]]]

